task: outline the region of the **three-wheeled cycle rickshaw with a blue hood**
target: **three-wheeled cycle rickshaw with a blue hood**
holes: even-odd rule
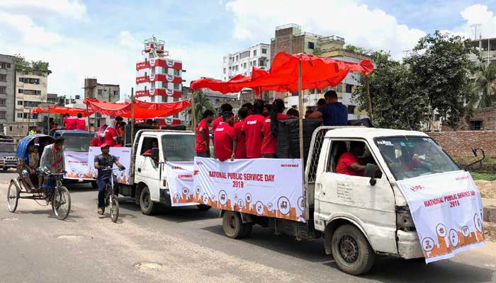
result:
[[[43,174],[45,178],[52,176],[54,182],[45,186],[46,197],[43,195],[43,190],[35,189],[28,190],[28,185],[22,178],[23,162],[26,156],[26,151],[28,146],[38,145],[39,151],[36,154],[42,154],[44,146],[47,144],[52,144],[54,141],[53,137],[47,136],[46,134],[32,134],[28,137],[24,137],[19,141],[17,146],[16,156],[18,158],[18,176],[17,178],[11,179],[9,190],[7,192],[7,208],[9,212],[16,212],[18,200],[35,200],[36,203],[41,206],[52,205],[52,211],[57,217],[57,219],[64,220],[69,216],[69,211],[71,210],[71,196],[69,195],[69,190],[67,187],[62,185],[62,178],[64,178],[64,173],[52,173],[50,171],[45,171]],[[40,156],[41,157],[41,156]],[[31,176],[31,181],[36,184],[35,187],[39,187],[38,177]]]

